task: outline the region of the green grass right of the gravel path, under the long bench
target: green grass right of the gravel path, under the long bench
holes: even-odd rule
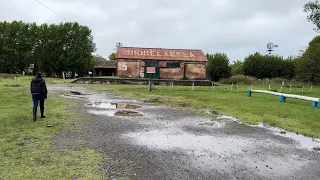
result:
[[[247,97],[247,90],[251,86],[231,85],[220,87],[178,87],[158,86],[158,90],[148,91],[147,86],[141,85],[112,85],[107,89],[104,85],[96,85],[100,91],[114,91],[119,95],[136,98],[159,98],[161,103],[179,107],[181,103],[190,103],[197,111],[212,109],[220,114],[231,115],[248,124],[268,123],[288,131],[297,132],[310,137],[320,137],[320,108],[312,108],[310,101],[289,98],[286,103],[280,103],[278,96],[253,93]],[[227,92],[223,92],[227,88]],[[259,89],[254,86],[253,89]],[[268,89],[268,86],[260,87]],[[273,87],[274,90],[280,87]],[[283,92],[290,93],[290,88],[285,87]],[[309,89],[294,88],[294,94],[320,97],[320,87]]]

